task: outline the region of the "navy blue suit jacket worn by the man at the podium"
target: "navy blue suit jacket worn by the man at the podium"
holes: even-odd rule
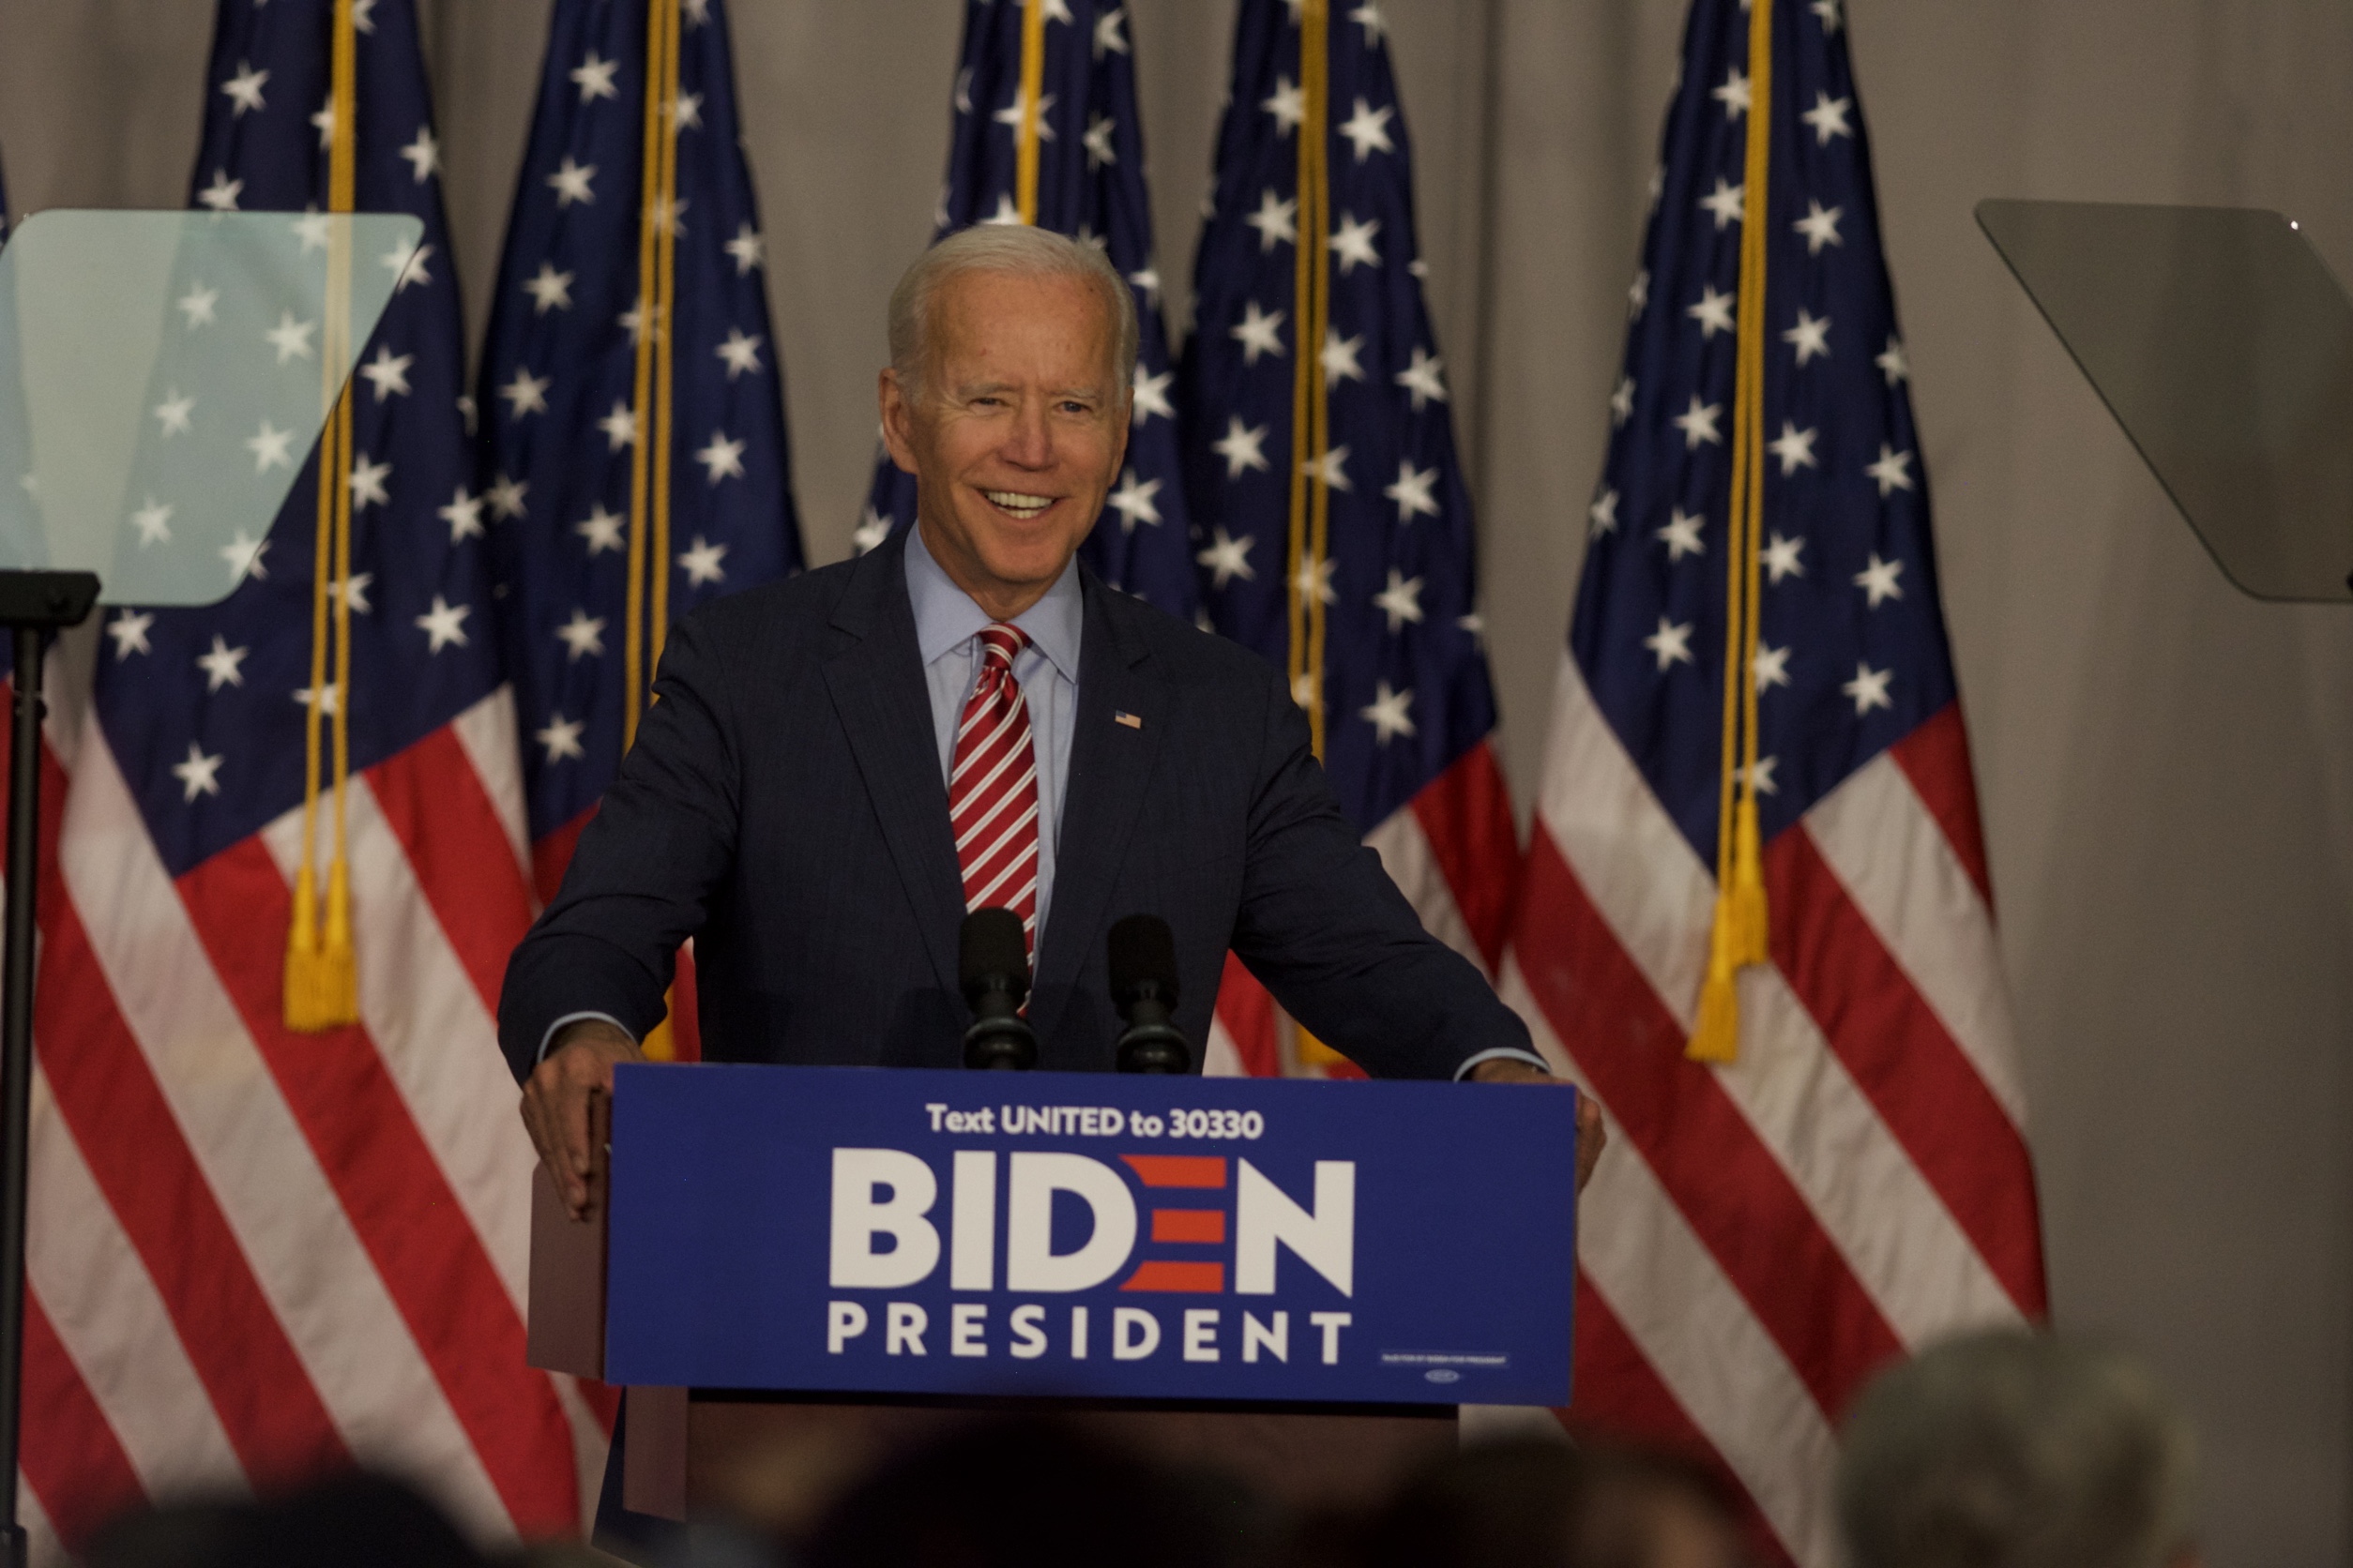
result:
[[[499,1039],[518,1079],[565,1013],[609,1013],[642,1039],[689,936],[711,1060],[960,1065],[965,891],[904,548],[675,628],[659,701],[508,961]],[[1082,590],[1078,726],[1028,1009],[1038,1065],[1111,1070],[1104,938],[1134,912],[1176,933],[1176,1025],[1195,1065],[1228,947],[1377,1077],[1452,1077],[1478,1051],[1525,1051],[1525,1025],[1358,842],[1282,677],[1085,569]]]

